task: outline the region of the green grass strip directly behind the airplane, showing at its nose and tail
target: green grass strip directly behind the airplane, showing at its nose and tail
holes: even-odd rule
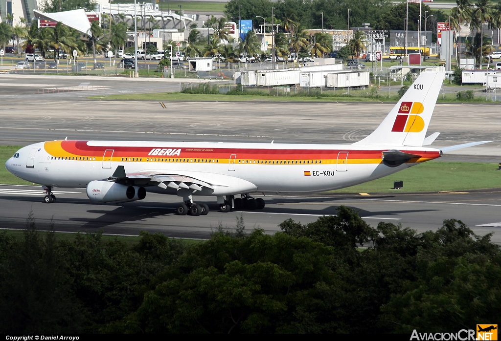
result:
[[[240,97],[240,96],[235,96]],[[2,164],[11,157],[19,146],[0,146]],[[404,181],[400,192],[461,191],[501,187],[501,171],[494,163],[429,161],[398,173],[356,186],[338,189],[334,193],[382,193],[393,192],[393,181]],[[21,180],[2,167],[0,183],[33,184]]]

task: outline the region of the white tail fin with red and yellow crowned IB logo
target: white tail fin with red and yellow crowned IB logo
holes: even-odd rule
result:
[[[421,72],[386,118],[355,145],[422,146],[445,72]]]

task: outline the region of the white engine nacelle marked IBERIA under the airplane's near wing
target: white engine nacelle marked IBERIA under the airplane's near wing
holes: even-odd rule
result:
[[[146,189],[112,181],[94,180],[87,185],[87,196],[99,202],[128,202],[144,199]]]

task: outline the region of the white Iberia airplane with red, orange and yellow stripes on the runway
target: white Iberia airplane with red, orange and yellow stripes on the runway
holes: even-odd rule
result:
[[[174,194],[176,213],[205,215],[212,195],[219,210],[262,209],[256,192],[308,193],[377,179],[442,156],[425,147],[425,137],[445,72],[422,72],[381,124],[353,144],[54,140],[19,149],[6,162],[16,176],[43,185],[44,202],[56,201],[53,187],[86,187],[89,199],[122,203],[147,192]],[[235,197],[236,196],[236,197]]]

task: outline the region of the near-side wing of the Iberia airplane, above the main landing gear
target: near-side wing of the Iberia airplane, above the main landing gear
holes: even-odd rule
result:
[[[229,195],[254,192],[258,189],[252,182],[224,174],[187,170],[169,173],[149,170],[126,173],[123,165],[119,165],[108,180],[132,186],[157,186],[167,194],[189,190],[200,195]]]

